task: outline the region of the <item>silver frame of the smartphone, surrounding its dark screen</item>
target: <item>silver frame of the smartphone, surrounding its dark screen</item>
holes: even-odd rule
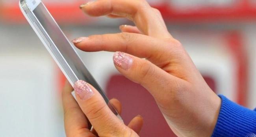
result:
[[[22,14],[24,15],[24,17],[26,18],[26,20],[28,21],[28,23],[30,24],[30,26],[32,27],[32,29],[35,31],[35,33],[37,34],[37,36],[39,37],[39,39],[42,41],[43,45],[45,45],[46,49],[48,50],[48,52],[50,53],[50,55],[52,56],[52,58],[54,58],[54,61],[57,63],[57,65],[59,66],[59,68],[61,69],[61,71],[63,72],[63,74],[65,75],[65,77],[68,79],[69,83],[73,86],[74,83],[80,79],[78,79],[78,77],[76,76],[76,74],[74,73],[74,71],[70,68],[69,64],[67,63],[67,61],[65,60],[65,58],[62,56],[61,52],[58,50],[58,48],[56,47],[56,45],[54,44],[54,42],[52,41],[52,39],[50,38],[50,36],[47,34],[47,32],[45,31],[45,29],[43,28],[43,26],[41,25],[41,23],[39,22],[39,20],[36,18],[35,14],[33,13],[33,10],[39,5],[39,4],[43,4],[43,2],[41,0],[20,0],[19,1],[19,7],[20,10],[22,11]],[[43,4],[43,6],[45,7],[45,5]],[[46,11],[50,14],[50,12],[48,11],[48,9],[45,7]],[[50,14],[52,20],[54,20],[54,18],[52,17],[52,15]],[[65,34],[63,33],[63,31],[61,30],[61,28],[59,27],[58,23],[54,20],[54,22],[57,24],[58,28],[60,29],[61,33],[65,36]],[[67,37],[65,36],[65,38],[67,39]],[[67,39],[67,41],[69,41]],[[70,41],[69,41],[70,46],[72,47],[72,49],[74,50],[74,52],[77,54],[76,50],[74,49],[74,47],[71,45]],[[80,58],[80,56],[77,54],[77,56],[79,57],[79,59],[82,61],[82,59]],[[83,62],[83,61],[82,61]],[[84,63],[83,63],[84,65]],[[85,65],[84,65],[85,67]],[[111,111],[117,115],[117,117],[119,119],[122,120],[121,116],[118,114],[118,112],[115,110],[115,108],[109,103],[109,99],[106,96],[106,94],[103,92],[102,88],[100,88],[100,86],[98,85],[98,83],[96,82],[96,80],[93,78],[93,76],[89,73],[89,70],[87,70],[87,68],[85,67],[85,71],[87,72],[88,77],[91,81],[90,84],[92,84],[93,86],[95,86],[95,88],[98,90],[98,92],[100,92],[100,94],[102,95],[102,97],[104,98],[104,100],[106,101],[107,105],[109,106],[109,108],[111,109]],[[87,81],[88,82],[88,81]]]

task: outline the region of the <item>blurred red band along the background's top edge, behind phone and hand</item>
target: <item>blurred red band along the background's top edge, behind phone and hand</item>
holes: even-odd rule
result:
[[[186,12],[174,9],[171,2],[163,2],[152,5],[161,11],[167,22],[245,22],[256,20],[256,4],[250,0],[237,0],[237,3],[230,6],[204,6],[198,5],[194,10],[189,7]],[[46,4],[50,13],[58,23],[63,24],[84,24],[92,22],[92,18],[87,18],[79,9],[80,1],[72,4]],[[201,6],[201,7],[200,7]],[[18,4],[0,5],[0,16],[8,23],[24,23],[25,18],[22,16]]]

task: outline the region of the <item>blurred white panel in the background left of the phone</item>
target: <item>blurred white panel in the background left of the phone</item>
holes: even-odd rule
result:
[[[0,56],[1,136],[56,137],[61,108],[52,60],[25,54]]]

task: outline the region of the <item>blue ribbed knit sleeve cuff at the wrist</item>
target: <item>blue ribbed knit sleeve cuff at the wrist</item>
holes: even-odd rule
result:
[[[212,137],[256,135],[256,111],[237,105],[223,95],[219,97],[221,97],[221,109]]]

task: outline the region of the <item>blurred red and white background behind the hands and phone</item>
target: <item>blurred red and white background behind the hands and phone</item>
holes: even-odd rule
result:
[[[90,18],[86,0],[42,0],[69,40],[117,33],[132,22]],[[181,41],[208,85],[243,106],[256,107],[255,0],[148,0]],[[123,104],[128,123],[144,117],[142,137],[170,137],[152,96],[115,70],[111,52],[81,52],[109,98]],[[0,133],[2,137],[64,137],[61,88],[65,77],[28,25],[18,0],[0,0]]]

